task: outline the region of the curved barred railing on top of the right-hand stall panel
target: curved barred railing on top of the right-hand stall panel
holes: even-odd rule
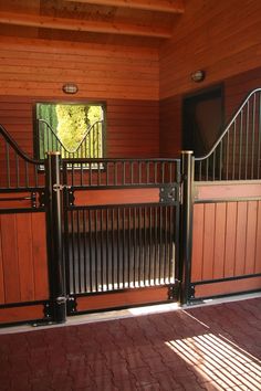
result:
[[[261,178],[261,88],[252,91],[203,157],[195,159],[195,180]]]

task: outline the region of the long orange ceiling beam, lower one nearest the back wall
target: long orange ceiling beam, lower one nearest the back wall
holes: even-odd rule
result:
[[[170,38],[168,29],[142,24],[105,22],[83,19],[54,18],[12,12],[0,12],[0,23],[69,31],[85,31],[122,35]]]

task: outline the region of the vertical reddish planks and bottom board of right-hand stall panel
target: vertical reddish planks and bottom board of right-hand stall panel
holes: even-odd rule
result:
[[[257,273],[261,273],[261,201],[195,204],[191,282]],[[196,287],[196,297],[199,292],[211,295],[215,285]],[[223,293],[234,292],[234,286],[241,289],[239,282],[230,282]],[[255,288],[257,281],[249,278],[246,290]]]

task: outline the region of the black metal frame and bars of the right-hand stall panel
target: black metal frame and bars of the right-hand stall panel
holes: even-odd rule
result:
[[[259,105],[258,105],[259,103]],[[242,119],[244,116],[244,109],[247,107],[247,117],[246,119]],[[251,112],[252,112],[252,123],[249,123],[250,119],[250,107],[251,107]],[[242,142],[242,137],[240,139],[239,142],[239,165],[244,162],[244,176],[241,177],[240,175],[240,168],[239,171],[237,171],[236,169],[236,151],[237,151],[237,137],[236,137],[236,124],[238,121],[238,118],[240,119],[240,128],[239,128],[239,133],[242,134],[242,126],[244,125],[246,127],[246,138],[247,141],[249,141],[248,138],[248,133],[250,131],[250,125],[252,125],[252,141],[251,141],[251,151],[252,151],[252,156],[251,156],[251,170],[249,171],[247,169],[248,166],[248,148],[246,148],[246,152],[247,156],[242,156],[242,149],[243,147],[241,146]],[[258,120],[257,120],[258,119]],[[231,130],[232,129],[232,130]],[[255,141],[255,133],[258,130],[258,147],[254,147],[254,141]],[[232,131],[233,138],[232,138],[232,144],[230,146],[230,149],[232,149],[232,175],[229,173],[229,168],[228,168],[228,163],[227,163],[227,169],[226,169],[226,175],[222,175],[222,171],[219,170],[218,175],[216,175],[215,168],[212,173],[209,175],[208,172],[208,160],[212,157],[215,159],[215,154],[217,148],[220,148],[220,145],[222,146],[222,141],[226,137],[228,137],[229,139],[229,133]],[[255,148],[255,149],[254,149]],[[254,150],[257,151],[257,157],[254,155]],[[228,149],[227,149],[228,151]],[[227,158],[229,159],[229,152],[227,152]],[[220,155],[222,156],[222,155]],[[244,159],[243,159],[244,158]],[[192,166],[195,166],[195,178],[191,181],[191,204],[195,203],[217,203],[217,202],[237,202],[237,201],[254,201],[254,200],[261,200],[261,196],[260,197],[251,197],[251,198],[240,198],[240,197],[233,197],[228,198],[228,197],[223,197],[222,199],[216,199],[216,200],[197,200],[197,196],[195,192],[195,184],[196,183],[200,183],[200,181],[223,181],[223,183],[227,183],[229,180],[232,180],[233,182],[237,181],[237,183],[246,183],[249,180],[253,180],[253,179],[261,179],[261,88],[255,88],[253,89],[248,96],[247,98],[242,102],[242,104],[240,105],[239,109],[234,113],[234,115],[232,116],[232,118],[229,120],[228,125],[226,126],[222,135],[220,136],[220,138],[217,140],[217,142],[215,144],[215,146],[212,147],[212,149],[203,157],[201,158],[194,158],[192,157]],[[205,165],[205,175],[202,175],[202,167]],[[247,166],[246,166],[247,165]],[[213,165],[215,167],[215,165]],[[220,165],[221,167],[221,165]],[[241,167],[241,166],[239,166]],[[257,171],[255,171],[257,170]],[[255,172],[255,175],[254,175]],[[189,203],[187,203],[189,205]],[[190,219],[192,219],[192,210],[190,213]],[[190,229],[190,234],[192,233],[192,225]],[[189,234],[189,233],[188,233]],[[187,251],[189,251],[190,245],[188,244],[188,246],[185,246],[185,249],[187,249]],[[189,268],[190,266],[190,262],[191,262],[191,254],[189,254],[188,258],[184,261],[184,265],[186,265],[187,268]],[[185,273],[186,275],[186,273]],[[259,277],[261,274],[257,273],[257,274],[251,274],[251,275],[241,275],[241,276],[233,276],[233,277],[225,277],[225,278],[216,278],[216,279],[210,279],[210,281],[201,281],[201,282],[191,282],[191,273],[189,271],[189,273],[187,274],[187,284],[185,286],[185,297],[186,299],[184,300],[184,303],[195,303],[195,302],[200,302],[203,299],[208,299],[208,298],[218,298],[218,297],[226,297],[227,295],[211,295],[211,296],[206,296],[206,297],[197,297],[195,298],[195,290],[196,287],[199,285],[206,285],[206,284],[215,284],[215,283],[221,283],[221,282],[229,282],[229,281],[239,281],[239,279],[246,279],[246,278],[254,278],[254,277]],[[260,290],[260,289],[257,289]],[[251,292],[257,292],[257,290],[251,290]],[[241,294],[241,292],[237,292],[233,294],[229,294],[230,295],[237,295],[237,294]]]

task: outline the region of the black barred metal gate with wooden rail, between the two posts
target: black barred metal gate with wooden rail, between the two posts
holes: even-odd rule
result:
[[[69,303],[179,279],[180,160],[63,160]],[[75,313],[75,306],[69,306]]]

